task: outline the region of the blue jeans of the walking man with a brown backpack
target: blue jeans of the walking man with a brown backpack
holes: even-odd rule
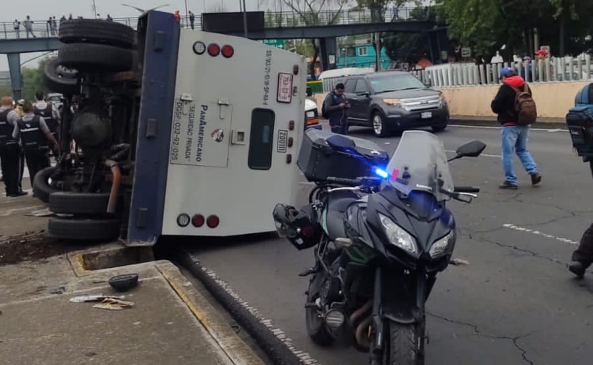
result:
[[[512,185],[517,185],[517,176],[513,167],[513,154],[517,153],[521,164],[528,174],[537,173],[537,165],[527,150],[529,135],[528,125],[513,125],[502,127],[502,166],[505,169],[505,179]]]

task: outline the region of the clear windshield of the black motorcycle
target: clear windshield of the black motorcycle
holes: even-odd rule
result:
[[[391,186],[406,195],[421,190],[444,201],[449,196],[441,190],[454,190],[445,147],[439,138],[426,131],[405,131],[401,135],[387,173]]]

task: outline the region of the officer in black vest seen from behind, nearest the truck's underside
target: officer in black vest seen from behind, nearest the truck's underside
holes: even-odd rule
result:
[[[37,172],[50,166],[49,157],[47,157],[49,153],[48,141],[56,150],[59,150],[60,147],[44,119],[34,114],[33,104],[25,102],[23,111],[25,115],[18,121],[18,128],[15,129],[13,137],[15,139],[20,137],[25,160],[27,160],[31,186],[33,186]]]

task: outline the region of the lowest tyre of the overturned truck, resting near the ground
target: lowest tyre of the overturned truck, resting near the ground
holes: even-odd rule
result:
[[[62,240],[111,241],[120,234],[119,219],[50,218],[47,235]]]

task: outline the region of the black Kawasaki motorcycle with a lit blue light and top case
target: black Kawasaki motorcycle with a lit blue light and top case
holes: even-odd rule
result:
[[[314,267],[300,274],[310,276],[305,321],[314,343],[340,339],[374,365],[424,363],[425,303],[436,274],[454,263],[446,202],[470,203],[479,192],[454,186],[448,162],[484,148],[471,141],[447,160],[435,135],[406,131],[388,159],[369,141],[305,134],[298,166],[316,186],[308,205],[278,204],[273,218],[296,248],[315,247]]]

